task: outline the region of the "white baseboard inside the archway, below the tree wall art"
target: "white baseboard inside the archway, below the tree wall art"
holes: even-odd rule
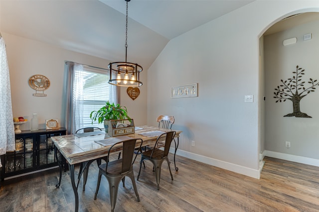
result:
[[[315,158],[303,157],[303,156],[286,154],[286,153],[275,152],[275,151],[268,151],[268,150],[264,150],[263,155],[319,167],[319,159],[315,159]]]

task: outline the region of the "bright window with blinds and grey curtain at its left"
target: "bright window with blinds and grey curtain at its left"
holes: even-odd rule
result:
[[[109,71],[67,61],[65,63],[64,121],[68,134],[84,127],[104,128],[92,124],[90,113],[110,101],[118,102],[117,87],[108,83]]]

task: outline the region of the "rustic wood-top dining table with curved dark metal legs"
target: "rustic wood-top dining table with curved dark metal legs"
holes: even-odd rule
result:
[[[118,137],[110,137],[104,131],[94,131],[94,132],[81,133],[81,134],[51,137],[54,143],[54,148],[55,148],[55,151],[54,151],[55,158],[58,161],[58,164],[60,167],[59,182],[56,184],[56,188],[59,188],[61,185],[62,167],[63,165],[67,163],[69,166],[69,173],[70,173],[72,188],[74,191],[74,198],[75,198],[74,211],[78,212],[79,181],[81,176],[83,175],[84,176],[83,191],[85,191],[85,184],[87,181],[89,166],[94,160],[98,160],[98,164],[99,164],[99,161],[101,161],[101,158],[103,157],[105,158],[106,156],[108,156],[108,150],[111,147],[111,145],[117,141],[128,140],[128,139],[142,139],[143,140],[142,147],[145,147],[145,146],[153,147],[159,135],[169,131],[176,132],[174,140],[173,140],[175,143],[174,166],[175,166],[175,170],[178,171],[178,167],[176,167],[176,163],[175,163],[175,155],[176,155],[176,151],[179,144],[179,135],[180,133],[182,133],[182,131],[144,125],[144,126],[135,127],[135,132],[132,134],[127,134],[127,135],[118,136]],[[136,143],[137,148],[140,147],[140,144],[141,144],[141,141]],[[122,149],[120,148],[116,148],[116,150],[110,152],[110,154],[120,153],[121,150]],[[60,155],[59,152],[63,157],[58,157],[58,155]],[[64,161],[64,164],[62,161]],[[76,164],[81,164],[81,167],[83,168],[82,170],[80,169],[78,173],[77,184],[75,183],[75,172],[74,172],[74,166]]]

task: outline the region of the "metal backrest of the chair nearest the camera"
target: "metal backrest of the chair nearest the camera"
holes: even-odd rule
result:
[[[139,145],[139,147],[136,147],[136,143],[138,141],[140,141],[141,144]],[[119,141],[113,144],[108,151],[107,161],[110,161],[110,158],[109,158],[110,152],[116,150],[122,144],[122,159],[120,159],[122,161],[121,174],[130,171],[133,164],[132,161],[133,161],[134,150],[135,148],[141,148],[142,143],[143,143],[142,139],[130,139],[126,141]],[[109,162],[107,162],[106,164],[106,173],[108,173],[108,163]]]

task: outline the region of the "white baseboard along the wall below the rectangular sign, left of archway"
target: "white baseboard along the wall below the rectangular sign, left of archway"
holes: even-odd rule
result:
[[[175,151],[175,148],[170,148],[170,152],[171,153],[174,153],[174,151]],[[180,155],[180,156],[183,156],[183,157],[187,157],[187,158],[192,159],[192,160],[196,160],[196,161],[199,161],[199,162],[202,162],[202,163],[206,163],[206,164],[209,164],[209,165],[212,165],[212,166],[216,166],[216,167],[219,167],[219,168],[222,168],[222,169],[226,169],[228,171],[232,171],[232,172],[236,172],[236,173],[239,173],[239,174],[243,174],[243,175],[246,175],[248,177],[253,177],[253,178],[256,178],[256,179],[260,179],[260,170],[247,168],[247,167],[244,167],[244,166],[236,165],[236,164],[225,162],[225,161],[222,161],[222,160],[217,160],[217,159],[214,159],[214,158],[206,157],[206,156],[203,156],[203,155],[195,154],[195,153],[184,151],[184,150],[180,150],[180,149],[177,149],[176,154]],[[177,167],[178,167],[178,164],[177,164]]]

